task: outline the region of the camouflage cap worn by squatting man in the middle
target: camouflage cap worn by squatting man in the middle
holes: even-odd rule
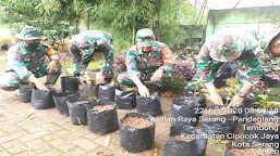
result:
[[[137,30],[136,39],[142,47],[150,47],[154,44],[155,35],[151,29],[144,28]]]

